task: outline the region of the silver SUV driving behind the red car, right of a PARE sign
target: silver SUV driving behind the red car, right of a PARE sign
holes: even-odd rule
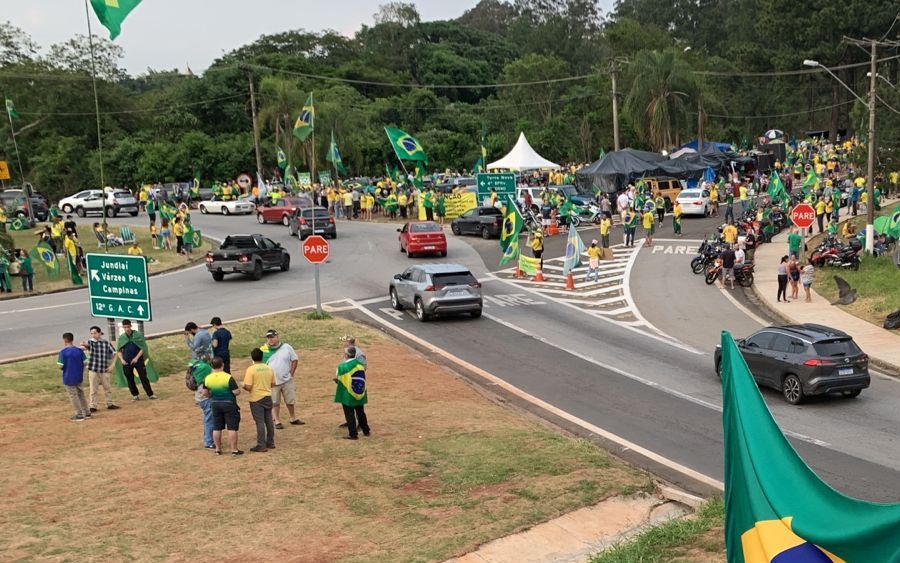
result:
[[[412,307],[422,322],[432,315],[469,313],[481,316],[481,284],[465,266],[422,264],[408,268],[391,280],[391,305]]]

